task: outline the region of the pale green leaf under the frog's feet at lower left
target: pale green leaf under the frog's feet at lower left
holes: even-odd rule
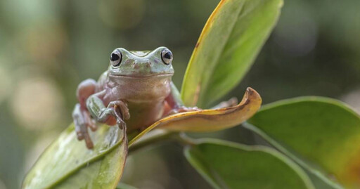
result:
[[[127,157],[124,132],[102,125],[91,138],[95,145],[88,150],[71,124],[37,160],[23,188],[115,188]]]

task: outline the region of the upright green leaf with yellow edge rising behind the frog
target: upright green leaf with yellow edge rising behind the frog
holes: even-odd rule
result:
[[[222,0],[207,20],[181,89],[185,105],[206,107],[244,77],[269,37],[282,0]]]

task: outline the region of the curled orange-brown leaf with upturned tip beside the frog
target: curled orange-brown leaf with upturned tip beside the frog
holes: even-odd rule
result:
[[[186,132],[210,132],[228,129],[236,126],[259,110],[262,104],[262,98],[259,93],[250,87],[246,90],[243,100],[234,106],[214,110],[200,110],[193,112],[183,112],[170,115],[158,122],[155,122],[147,129],[135,136],[130,142],[132,145],[141,136],[157,127],[168,131],[186,131]]]

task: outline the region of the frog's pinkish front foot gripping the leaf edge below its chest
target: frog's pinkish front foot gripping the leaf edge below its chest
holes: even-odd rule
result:
[[[120,129],[126,128],[127,124],[124,122],[124,120],[130,119],[130,113],[129,108],[127,108],[127,104],[122,100],[116,100],[110,102],[108,107],[114,108],[116,123]]]

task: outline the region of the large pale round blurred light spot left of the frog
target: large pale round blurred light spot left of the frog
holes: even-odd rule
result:
[[[61,122],[63,98],[46,77],[24,78],[13,91],[13,114],[27,129],[44,129]]]

